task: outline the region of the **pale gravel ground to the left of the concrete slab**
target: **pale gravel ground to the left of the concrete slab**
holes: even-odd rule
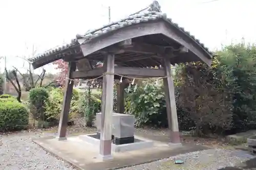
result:
[[[0,135],[0,169],[75,169],[32,142],[33,138],[41,136],[35,132]]]

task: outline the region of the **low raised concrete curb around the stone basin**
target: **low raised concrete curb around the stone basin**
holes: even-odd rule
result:
[[[99,148],[100,140],[96,138],[97,133],[90,134],[90,135],[80,135],[79,138],[85,142],[93,144],[95,147]],[[127,143],[127,144],[111,144],[111,149],[113,152],[126,152],[126,151],[134,151],[146,148],[152,148],[154,146],[153,141],[150,140],[143,140],[138,136],[135,136],[134,143]]]

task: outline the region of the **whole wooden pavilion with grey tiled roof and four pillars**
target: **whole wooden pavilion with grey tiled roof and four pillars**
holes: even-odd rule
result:
[[[202,61],[208,65],[209,50],[184,31],[166,14],[157,1],[146,9],[99,29],[77,35],[71,43],[54,48],[30,61],[34,68],[63,59],[69,63],[66,91],[61,110],[58,138],[66,139],[68,114],[74,79],[92,79],[103,75],[100,155],[111,155],[111,130],[114,79],[165,77],[163,79],[170,142],[180,143],[174,84],[170,65]],[[102,62],[102,67],[95,63]],[[152,67],[158,67],[153,69]],[[119,76],[117,76],[119,75]],[[118,111],[123,113],[123,87],[118,89]]]

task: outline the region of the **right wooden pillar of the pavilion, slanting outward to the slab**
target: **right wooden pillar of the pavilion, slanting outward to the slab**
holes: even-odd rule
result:
[[[168,118],[168,127],[170,132],[170,143],[180,143],[180,133],[177,109],[175,103],[174,83],[170,70],[170,61],[167,58],[163,59],[163,68],[167,78],[163,79],[166,111]]]

